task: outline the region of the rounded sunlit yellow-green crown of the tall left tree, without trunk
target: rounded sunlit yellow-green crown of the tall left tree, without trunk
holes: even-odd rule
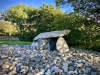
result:
[[[30,8],[32,8],[32,6]],[[14,22],[17,24],[25,23],[26,20],[28,19],[29,11],[31,11],[30,8],[27,5],[23,5],[21,3],[18,5],[13,5],[6,11],[5,17],[7,20],[13,23]]]

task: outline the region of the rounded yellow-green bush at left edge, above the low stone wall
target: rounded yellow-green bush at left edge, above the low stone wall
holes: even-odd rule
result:
[[[0,35],[15,35],[17,34],[16,26],[9,22],[0,21]]]

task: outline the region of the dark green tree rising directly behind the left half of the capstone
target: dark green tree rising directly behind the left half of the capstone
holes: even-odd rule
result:
[[[60,8],[55,9],[53,5],[43,4],[39,9],[33,10],[33,15],[31,15],[32,17],[29,20],[35,23],[34,25],[39,34],[51,31],[52,22],[57,14],[63,14]]]

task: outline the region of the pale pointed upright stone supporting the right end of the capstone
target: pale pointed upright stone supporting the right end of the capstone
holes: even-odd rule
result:
[[[60,53],[69,51],[68,45],[67,45],[66,41],[64,40],[64,38],[62,38],[62,37],[58,38],[57,43],[56,43],[56,49]]]

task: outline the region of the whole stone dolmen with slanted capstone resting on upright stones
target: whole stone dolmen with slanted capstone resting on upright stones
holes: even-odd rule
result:
[[[63,38],[70,30],[60,30],[40,33],[33,39],[31,48],[33,50],[57,50],[59,53],[69,51],[68,45]]]

